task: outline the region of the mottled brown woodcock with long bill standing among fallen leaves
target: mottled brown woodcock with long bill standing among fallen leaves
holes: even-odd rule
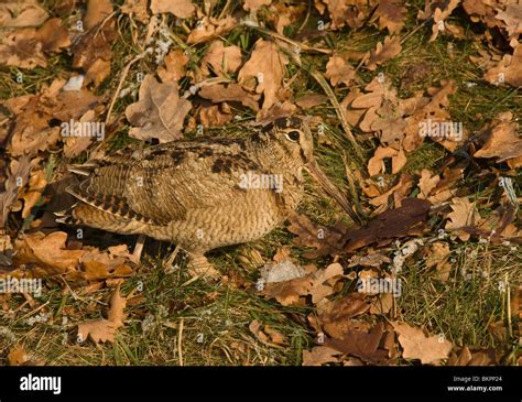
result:
[[[205,267],[207,251],[259,239],[284,221],[303,197],[303,169],[352,215],[318,169],[302,119],[250,130],[243,138],[175,141],[72,169],[85,180],[67,189],[78,202],[58,220],[174,242],[193,267]]]

